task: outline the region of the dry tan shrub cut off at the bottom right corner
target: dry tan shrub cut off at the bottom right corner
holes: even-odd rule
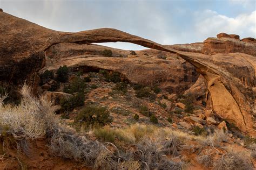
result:
[[[222,155],[220,159],[214,162],[214,169],[254,169],[253,163],[250,159],[250,155],[241,151],[228,151]]]

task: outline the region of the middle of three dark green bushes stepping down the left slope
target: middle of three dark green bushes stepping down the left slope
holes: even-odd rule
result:
[[[84,83],[84,80],[80,77],[75,77],[68,86],[64,87],[64,92],[73,94],[76,92],[83,92],[85,88],[86,84]]]

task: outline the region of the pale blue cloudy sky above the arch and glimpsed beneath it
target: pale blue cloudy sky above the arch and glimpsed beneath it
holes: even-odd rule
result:
[[[53,30],[111,27],[160,44],[199,42],[220,32],[256,38],[255,0],[0,0],[0,8]]]

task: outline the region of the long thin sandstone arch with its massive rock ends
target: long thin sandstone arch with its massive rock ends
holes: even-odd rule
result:
[[[254,42],[232,38],[235,36],[209,38],[204,41],[203,54],[200,54],[178,51],[114,29],[77,33],[58,32],[5,12],[0,12],[0,20],[0,79],[3,82],[19,84],[26,80],[37,87],[37,84],[33,83],[36,72],[44,68],[48,58],[47,51],[56,44],[131,42],[176,54],[190,62],[197,68],[197,72],[204,76],[207,107],[219,117],[237,125],[242,132],[255,135],[253,87],[255,87],[256,46]]]

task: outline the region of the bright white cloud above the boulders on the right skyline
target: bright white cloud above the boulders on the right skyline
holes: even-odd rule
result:
[[[230,18],[211,10],[196,13],[194,30],[200,37],[212,37],[220,32],[238,34],[241,38],[256,37],[256,10]]]

